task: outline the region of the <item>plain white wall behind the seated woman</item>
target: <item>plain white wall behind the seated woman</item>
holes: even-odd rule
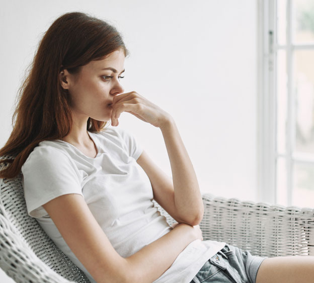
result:
[[[38,41],[72,11],[107,19],[121,31],[131,52],[125,92],[137,91],[175,118],[201,191],[256,201],[257,0],[2,3],[0,147],[12,130],[15,96]],[[119,126],[171,174],[158,128],[129,113]]]

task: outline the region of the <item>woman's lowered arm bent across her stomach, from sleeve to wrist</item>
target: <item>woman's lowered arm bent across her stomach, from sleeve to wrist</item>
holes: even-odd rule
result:
[[[189,243],[202,239],[199,226],[180,224],[135,254],[123,258],[111,245],[82,195],[61,195],[43,207],[97,283],[151,283],[171,266]]]

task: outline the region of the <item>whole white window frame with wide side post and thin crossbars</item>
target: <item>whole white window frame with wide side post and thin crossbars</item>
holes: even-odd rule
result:
[[[258,200],[277,203],[277,159],[286,159],[287,204],[292,203],[293,166],[314,164],[314,155],[296,154],[294,149],[295,93],[292,80],[295,49],[314,49],[314,44],[292,44],[293,0],[286,0],[286,45],[277,45],[277,0],[258,1]],[[277,153],[277,50],[287,54],[286,153]]]

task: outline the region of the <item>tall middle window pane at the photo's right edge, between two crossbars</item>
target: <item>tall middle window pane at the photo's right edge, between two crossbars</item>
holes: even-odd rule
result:
[[[314,153],[314,50],[294,52],[296,92],[295,149]]]

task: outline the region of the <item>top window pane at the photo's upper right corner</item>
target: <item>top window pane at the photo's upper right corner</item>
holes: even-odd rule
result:
[[[293,5],[294,42],[314,42],[314,1],[297,0]]]

